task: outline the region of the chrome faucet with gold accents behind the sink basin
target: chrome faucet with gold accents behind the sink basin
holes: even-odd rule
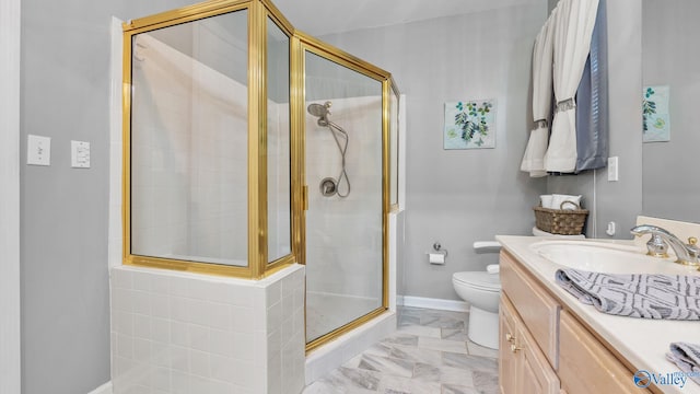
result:
[[[641,236],[644,234],[651,234],[652,237],[646,242],[646,254],[654,257],[668,257],[666,251],[668,245],[674,250],[676,254],[676,263],[700,266],[700,247],[696,245],[698,240],[696,237],[689,237],[688,243],[680,241],[676,235],[672,234],[667,230],[664,230],[656,225],[641,224],[632,228],[630,232],[634,236]]]

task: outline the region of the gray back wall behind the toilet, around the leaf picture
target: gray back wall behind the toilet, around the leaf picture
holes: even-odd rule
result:
[[[518,169],[532,123],[533,42],[546,18],[542,1],[322,37],[390,71],[407,96],[402,294],[457,300],[452,274],[497,260],[477,255],[474,241],[532,233],[546,181]],[[497,148],[443,150],[444,103],[491,97]],[[434,241],[450,252],[445,266],[428,263]]]

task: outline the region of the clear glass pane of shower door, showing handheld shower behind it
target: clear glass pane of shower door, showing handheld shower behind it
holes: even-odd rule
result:
[[[306,343],[383,308],[382,82],[306,50]]]

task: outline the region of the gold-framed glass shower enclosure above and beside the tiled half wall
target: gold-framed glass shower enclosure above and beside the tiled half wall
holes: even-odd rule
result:
[[[268,0],[124,27],[124,263],[253,280],[304,264],[307,350],[384,312],[390,74]]]

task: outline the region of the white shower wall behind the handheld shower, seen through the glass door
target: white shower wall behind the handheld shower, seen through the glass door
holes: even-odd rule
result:
[[[382,286],[382,97],[330,101],[330,120],[349,136],[346,167],[352,187],[347,198],[319,193],[323,178],[338,177],[341,155],[330,130],[307,114],[308,290],[376,299]],[[346,187],[342,181],[340,190]]]

